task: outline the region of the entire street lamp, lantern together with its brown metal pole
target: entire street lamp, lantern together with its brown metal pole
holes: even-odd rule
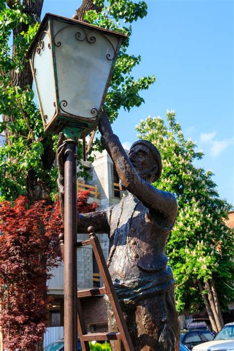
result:
[[[44,130],[67,138],[64,213],[64,346],[77,350],[77,141],[98,124],[126,36],[47,13],[29,58]]]

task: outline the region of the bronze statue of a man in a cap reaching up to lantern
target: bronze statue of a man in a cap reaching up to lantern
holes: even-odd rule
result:
[[[152,185],[161,174],[160,154],[149,141],[139,140],[127,155],[105,113],[99,131],[116,166],[121,187],[129,193],[107,211],[79,215],[78,233],[93,226],[97,233],[110,235],[108,268],[135,351],[179,350],[174,279],[165,255],[166,240],[177,215],[177,201],[174,195]],[[59,144],[58,185],[63,215],[62,138]],[[109,330],[116,330],[110,309],[108,322]],[[115,341],[112,350],[124,349]]]

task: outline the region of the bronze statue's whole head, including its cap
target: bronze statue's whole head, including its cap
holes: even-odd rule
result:
[[[150,141],[136,141],[132,144],[128,156],[141,178],[150,183],[160,178],[162,171],[161,156]]]

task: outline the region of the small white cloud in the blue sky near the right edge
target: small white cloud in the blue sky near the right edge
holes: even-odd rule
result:
[[[210,146],[209,152],[212,157],[220,156],[224,150],[226,150],[230,145],[234,144],[233,139],[215,139],[216,134],[216,131],[200,134],[200,142]]]

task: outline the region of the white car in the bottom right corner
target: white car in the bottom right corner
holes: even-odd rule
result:
[[[213,341],[196,345],[192,351],[234,351],[234,322],[225,324]]]

